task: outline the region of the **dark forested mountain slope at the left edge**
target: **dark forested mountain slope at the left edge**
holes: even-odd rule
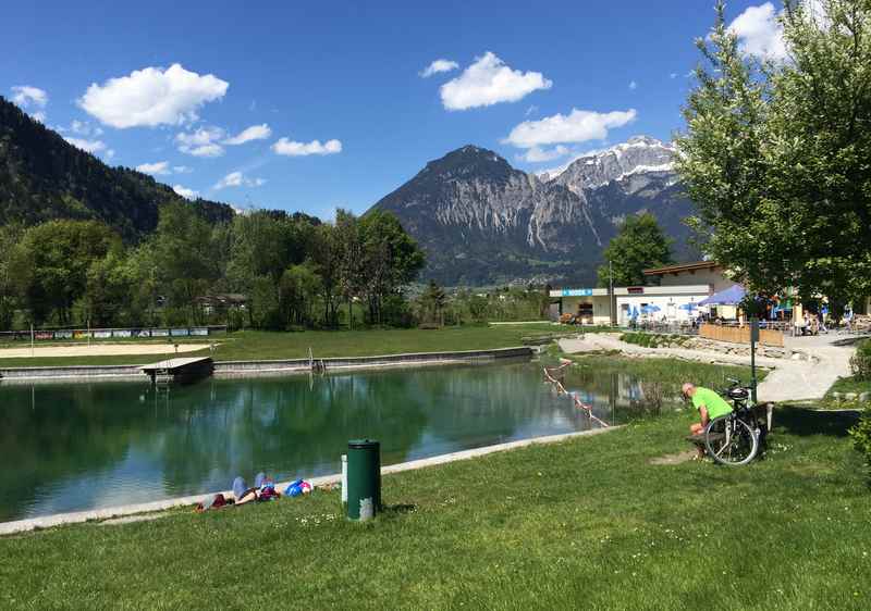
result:
[[[110,167],[0,97],[0,225],[96,219],[134,241],[154,230],[158,208],[169,201],[187,202],[151,176]],[[224,203],[188,205],[211,221],[233,216]]]

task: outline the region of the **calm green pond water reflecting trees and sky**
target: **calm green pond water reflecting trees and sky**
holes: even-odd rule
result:
[[[605,421],[627,394],[619,381],[610,387],[584,392]],[[529,362],[207,379],[159,391],[145,376],[0,384],[0,521],[226,489],[258,471],[279,481],[336,473],[357,437],[379,439],[391,464],[590,427]]]

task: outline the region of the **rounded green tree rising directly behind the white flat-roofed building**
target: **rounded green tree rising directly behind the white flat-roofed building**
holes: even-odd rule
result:
[[[611,262],[614,286],[643,285],[645,270],[673,262],[671,244],[652,214],[627,216],[602,253]],[[609,286],[611,273],[608,264],[599,267],[599,286]]]

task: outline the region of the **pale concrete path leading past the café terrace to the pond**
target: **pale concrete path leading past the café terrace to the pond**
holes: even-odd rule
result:
[[[813,354],[818,362],[757,357],[758,365],[773,370],[759,385],[759,400],[780,402],[822,399],[839,376],[849,375],[849,359],[855,348],[852,345],[836,344],[852,342],[856,339],[855,336],[835,335],[787,337],[787,348]],[[621,341],[618,334],[611,333],[590,333],[582,339],[561,339],[560,348],[567,353],[618,350],[633,356],[678,358],[716,364],[750,364],[749,357],[738,354],[686,348],[645,348]]]

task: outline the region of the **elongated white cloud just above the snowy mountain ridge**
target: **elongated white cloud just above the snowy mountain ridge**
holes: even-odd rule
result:
[[[539,121],[524,121],[503,142],[529,149],[542,145],[603,140],[609,129],[631,123],[636,115],[635,109],[605,113],[572,109],[568,115],[554,114]]]

